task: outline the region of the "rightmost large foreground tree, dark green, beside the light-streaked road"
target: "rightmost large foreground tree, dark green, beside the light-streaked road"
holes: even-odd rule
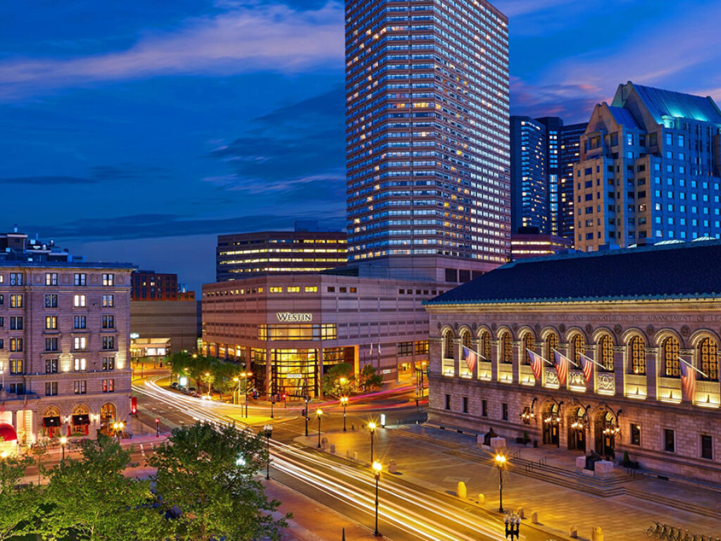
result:
[[[262,436],[234,426],[208,423],[174,428],[149,464],[164,509],[180,509],[166,534],[177,540],[279,540],[286,525],[271,513],[280,502],[267,499],[256,474],[267,460]],[[288,515],[289,516],[289,515]],[[286,517],[287,518],[287,517]]]

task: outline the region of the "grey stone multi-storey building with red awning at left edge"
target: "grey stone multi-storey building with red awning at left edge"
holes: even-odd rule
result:
[[[110,434],[130,408],[133,266],[48,260],[12,235],[20,244],[0,260],[0,446]]]

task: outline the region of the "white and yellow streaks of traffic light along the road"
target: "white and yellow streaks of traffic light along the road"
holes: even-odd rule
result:
[[[236,423],[236,420],[223,411],[227,412],[229,405],[185,397],[185,395],[180,396],[159,387],[154,380],[146,380],[145,387],[133,385],[133,390],[177,408],[182,413],[191,415],[197,421]],[[249,434],[255,434],[251,428],[244,426],[237,428],[247,431]],[[371,516],[375,512],[375,495],[373,493],[375,480],[367,472],[363,472],[353,465],[344,465],[280,441],[270,440],[270,452],[273,456],[273,467],[278,471],[284,472],[306,485],[332,493],[340,501],[354,509],[366,511]],[[386,479],[392,480],[388,477]],[[381,483],[379,493],[381,493],[379,516],[383,517],[386,522],[392,523],[394,527],[424,540],[477,541],[479,539],[477,535],[469,537],[459,529],[471,529],[490,540],[505,539],[505,532],[499,523],[475,516],[448,501],[441,500],[441,498],[428,494],[419,495],[416,491],[394,481]],[[396,500],[400,503],[396,503]],[[449,528],[448,523],[453,527]]]

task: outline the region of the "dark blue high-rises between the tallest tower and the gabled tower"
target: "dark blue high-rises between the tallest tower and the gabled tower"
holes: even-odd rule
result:
[[[585,126],[564,126],[558,117],[510,118],[513,232],[530,226],[573,239],[573,164]]]

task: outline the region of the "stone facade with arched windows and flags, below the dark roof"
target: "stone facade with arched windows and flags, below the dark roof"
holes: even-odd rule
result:
[[[430,421],[721,483],[721,299],[429,304]],[[479,354],[472,371],[463,345]],[[572,361],[534,377],[526,348]],[[678,357],[704,371],[681,388]],[[508,362],[507,362],[508,361]]]

